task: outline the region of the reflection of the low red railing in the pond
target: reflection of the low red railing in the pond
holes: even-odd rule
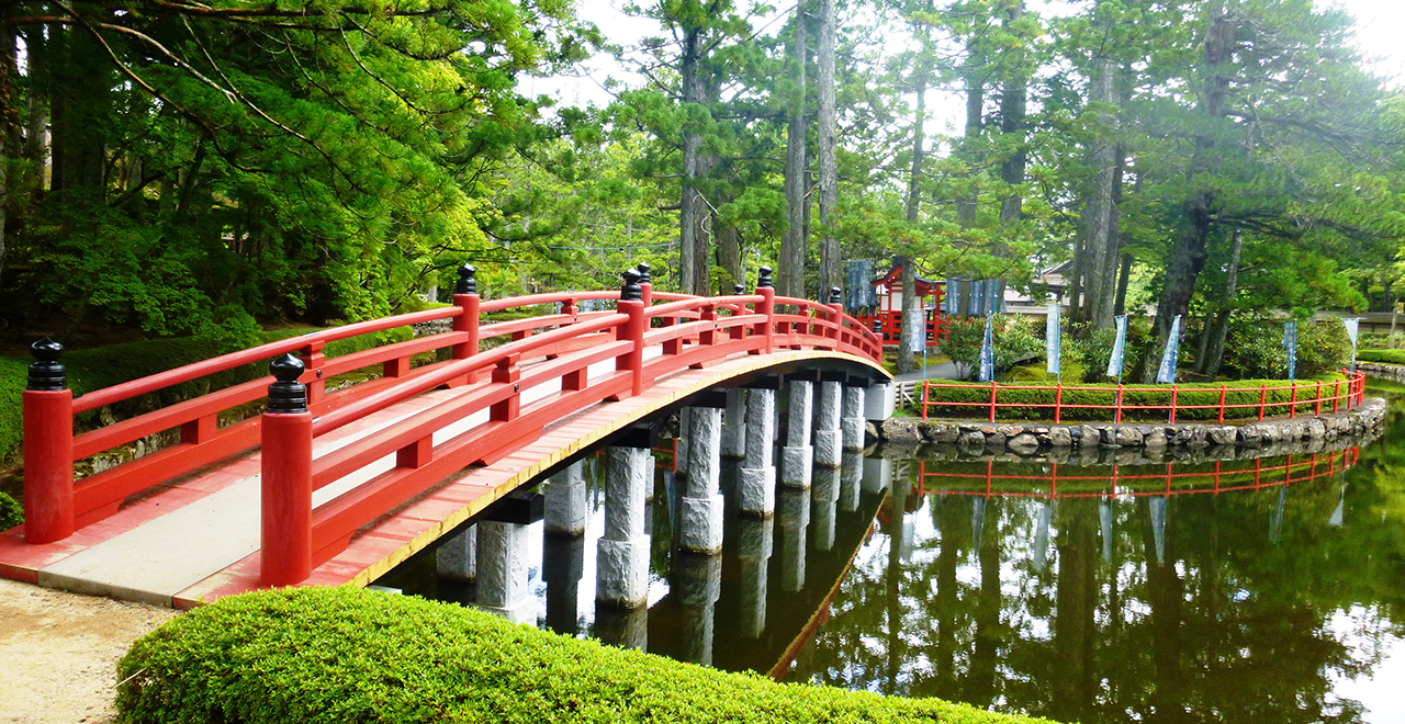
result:
[[[922,462],[917,471],[919,492],[939,495],[982,495],[992,498],[1104,498],[1109,495],[1187,495],[1220,494],[1239,490],[1263,490],[1274,485],[1290,485],[1322,477],[1332,477],[1350,470],[1360,462],[1361,449],[1349,448],[1333,453],[1311,453],[1309,456],[1288,455],[1283,463],[1264,464],[1262,457],[1222,463],[1215,460],[1211,470],[1176,470],[1176,463],[1166,463],[1165,471],[1125,473],[1127,466],[1111,466],[1111,473],[1059,474],[1058,463],[1050,463],[1050,474],[995,474],[993,460],[985,462],[985,473],[941,471],[929,473]],[[1325,467],[1324,467],[1325,464]],[[1075,466],[1086,470],[1089,466]],[[1152,466],[1135,466],[1144,470]],[[1184,464],[1182,467],[1186,467]],[[936,481],[929,484],[929,480]],[[961,485],[954,481],[969,481]],[[1155,485],[1148,485],[1155,483]],[[1064,490],[1059,490],[1059,485]],[[1090,490],[1092,484],[1096,490]],[[1141,490],[1134,487],[1141,485]],[[1012,490],[1026,488],[1026,490]],[[1034,490],[1045,488],[1045,490]],[[1069,490],[1072,488],[1072,490]]]

